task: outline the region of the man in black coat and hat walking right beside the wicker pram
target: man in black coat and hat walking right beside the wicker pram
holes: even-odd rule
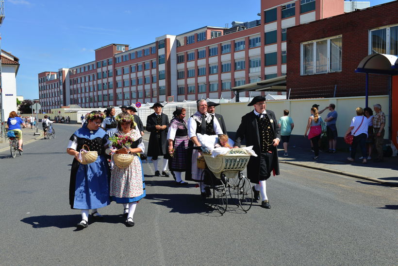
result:
[[[265,180],[272,172],[274,175],[279,175],[277,146],[281,138],[281,129],[275,113],[265,110],[265,97],[254,97],[248,106],[254,106],[254,110],[242,117],[242,122],[236,131],[234,147],[240,147],[243,139],[246,139],[246,146],[253,146],[257,157],[251,156],[249,159],[248,178],[255,184],[252,187],[254,199],[259,200],[261,194],[261,206],[269,209],[271,206],[266,195]]]

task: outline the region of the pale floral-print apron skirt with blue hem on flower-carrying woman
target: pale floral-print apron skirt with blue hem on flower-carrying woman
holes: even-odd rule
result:
[[[146,196],[144,171],[138,156],[127,168],[119,168],[114,164],[110,183],[110,195],[116,203],[129,203]]]

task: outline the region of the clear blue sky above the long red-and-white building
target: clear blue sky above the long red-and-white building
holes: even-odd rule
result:
[[[260,18],[260,0],[201,0],[195,6],[187,0],[136,2],[5,0],[1,49],[19,58],[17,95],[38,98],[37,73],[93,61],[94,49],[110,43],[138,47],[165,34]]]

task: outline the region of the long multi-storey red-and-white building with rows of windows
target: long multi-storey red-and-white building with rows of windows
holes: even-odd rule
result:
[[[231,99],[232,87],[286,74],[287,28],[344,12],[342,0],[260,2],[260,19],[163,35],[136,48],[110,44],[92,62],[39,73],[43,110]]]

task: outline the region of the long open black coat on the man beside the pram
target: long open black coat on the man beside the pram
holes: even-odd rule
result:
[[[276,120],[275,113],[271,110],[266,110],[266,114],[271,121],[271,129],[275,134],[275,138],[281,138],[281,129],[279,128],[278,121]],[[260,173],[260,135],[258,132],[257,125],[257,116],[253,111],[247,113],[242,117],[242,122],[239,125],[238,130],[236,131],[236,140],[233,144],[234,146],[240,147],[241,141],[246,139],[246,146],[253,146],[254,152],[257,154],[257,157],[250,156],[249,163],[247,166],[248,178],[250,182],[257,184],[259,182],[259,173]],[[276,146],[272,146],[272,170],[275,175],[279,175],[279,160],[278,160],[278,149]],[[267,169],[268,170],[268,169]]]

